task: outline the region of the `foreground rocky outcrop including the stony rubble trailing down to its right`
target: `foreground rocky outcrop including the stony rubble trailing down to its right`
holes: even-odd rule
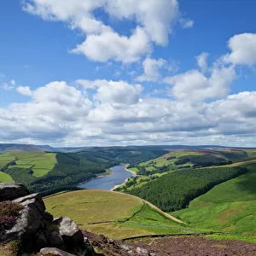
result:
[[[11,227],[7,225],[8,228],[1,230],[3,225],[0,222],[0,249],[1,244],[10,245],[15,241],[20,246],[19,256],[29,256],[32,253],[41,256],[154,255],[142,247],[128,246],[123,241],[114,241],[106,236],[82,231],[71,218],[54,219],[49,212],[45,212],[41,195],[29,195],[29,191],[22,185],[0,183],[0,199],[12,201],[15,206],[19,206],[19,212],[15,215],[16,221]],[[101,253],[96,253],[94,248]]]

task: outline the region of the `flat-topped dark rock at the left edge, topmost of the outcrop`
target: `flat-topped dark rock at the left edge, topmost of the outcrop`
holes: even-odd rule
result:
[[[13,201],[26,195],[29,195],[29,191],[21,184],[0,183],[0,201]]]

